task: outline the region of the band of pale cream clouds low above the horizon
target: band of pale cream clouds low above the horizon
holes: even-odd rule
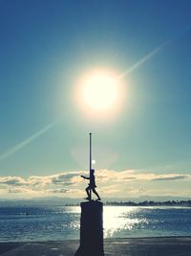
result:
[[[84,180],[80,175],[88,176],[89,172],[61,172],[54,175],[36,175],[28,178],[4,176],[0,177],[0,193],[20,194],[20,196],[28,198],[52,195],[81,198],[84,197],[84,190],[88,185],[88,180]],[[155,194],[155,191],[157,192],[159,189],[166,189],[165,185],[161,185],[161,181],[165,180],[170,182],[168,188],[171,194],[178,193],[175,188],[173,190],[173,184],[176,184],[175,182],[189,181],[190,178],[191,175],[188,174],[159,175],[136,170],[116,171],[103,169],[96,171],[97,191],[104,197],[138,197],[143,194],[146,195],[146,193]],[[153,181],[155,181],[155,185]],[[188,190],[189,188],[185,189]]]

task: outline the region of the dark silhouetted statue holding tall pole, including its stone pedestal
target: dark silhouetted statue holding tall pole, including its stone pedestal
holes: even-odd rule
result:
[[[104,256],[103,247],[103,203],[99,201],[96,192],[95,170],[92,169],[92,133],[90,133],[90,176],[81,175],[89,179],[90,183],[86,188],[88,201],[80,203],[80,245],[75,256]],[[97,199],[92,200],[92,192]]]

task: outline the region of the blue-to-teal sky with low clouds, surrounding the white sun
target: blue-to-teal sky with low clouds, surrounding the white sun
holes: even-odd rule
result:
[[[189,0],[0,0],[0,198],[83,198],[89,132],[101,198],[189,198],[190,12]],[[95,70],[122,88],[108,112],[80,98]]]

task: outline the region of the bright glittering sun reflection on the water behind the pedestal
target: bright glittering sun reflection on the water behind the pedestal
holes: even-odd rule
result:
[[[79,206],[70,206],[63,209],[64,213],[73,218],[68,220],[65,228],[78,231],[80,229]],[[103,207],[103,231],[104,238],[128,236],[133,231],[141,230],[148,223],[142,216],[142,208],[136,206],[104,206]],[[64,227],[64,226],[62,226]],[[129,233],[130,232],[130,233]],[[133,233],[132,233],[133,234]]]

